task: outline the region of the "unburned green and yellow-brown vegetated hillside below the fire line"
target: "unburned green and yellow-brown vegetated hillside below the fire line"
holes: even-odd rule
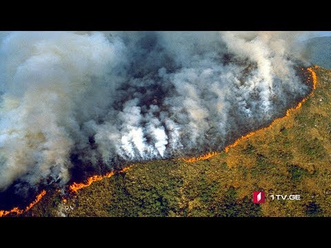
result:
[[[25,216],[331,216],[331,72],[315,71],[317,90],[299,110],[228,154],[136,163],[65,204],[48,192]],[[301,200],[257,205],[254,190]]]

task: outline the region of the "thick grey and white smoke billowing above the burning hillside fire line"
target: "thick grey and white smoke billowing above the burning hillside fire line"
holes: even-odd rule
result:
[[[222,149],[309,91],[290,53],[297,35],[3,35],[0,189],[63,185],[82,163],[111,169]]]

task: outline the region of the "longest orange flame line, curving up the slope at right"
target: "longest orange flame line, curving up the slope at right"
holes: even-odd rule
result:
[[[315,65],[315,68],[318,68],[318,66]],[[279,121],[279,120],[281,120],[283,118],[287,118],[288,116],[290,116],[292,114],[291,112],[293,112],[295,110],[299,110],[299,108],[302,106],[302,103],[304,103],[305,101],[307,101],[308,98],[310,96],[312,96],[312,94],[314,94],[313,90],[316,90],[316,87],[317,87],[317,76],[316,76],[316,73],[314,72],[314,70],[312,70],[312,68],[307,68],[307,70],[312,75],[312,92],[310,92],[310,94],[308,94],[308,96],[305,96],[305,98],[302,99],[295,107],[292,107],[292,108],[286,110],[285,116],[274,119],[274,121],[272,121],[272,123],[270,125],[268,125],[268,127],[263,127],[263,128],[261,128],[261,129],[259,129],[257,131],[250,132],[250,133],[248,133],[246,135],[241,136],[240,138],[237,138],[237,140],[234,141],[234,143],[232,143],[232,144],[230,144],[230,145],[228,145],[228,146],[226,146],[224,148],[224,152],[225,153],[228,153],[229,152],[229,149],[231,147],[237,146],[239,144],[239,142],[245,140],[246,138],[249,138],[249,137],[253,136],[254,134],[257,134],[257,132],[261,132],[263,130],[268,130],[277,121]],[[308,77],[308,79],[310,79],[310,77]],[[183,160],[185,162],[192,163],[192,162],[201,161],[201,160],[205,160],[205,159],[211,158],[212,156],[216,156],[218,154],[220,154],[220,152],[209,152],[208,154],[201,155],[201,156],[199,156],[197,158],[195,158],[195,157],[193,157],[193,158],[179,158],[179,160]]]

